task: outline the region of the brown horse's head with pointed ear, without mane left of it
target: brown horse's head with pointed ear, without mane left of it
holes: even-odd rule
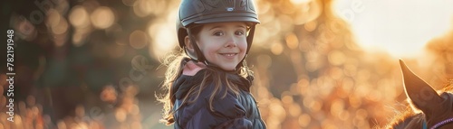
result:
[[[423,79],[413,73],[404,61],[400,60],[404,80],[404,91],[411,106],[424,114],[423,128],[453,128],[453,94],[440,95]],[[411,128],[410,125],[405,128]]]

